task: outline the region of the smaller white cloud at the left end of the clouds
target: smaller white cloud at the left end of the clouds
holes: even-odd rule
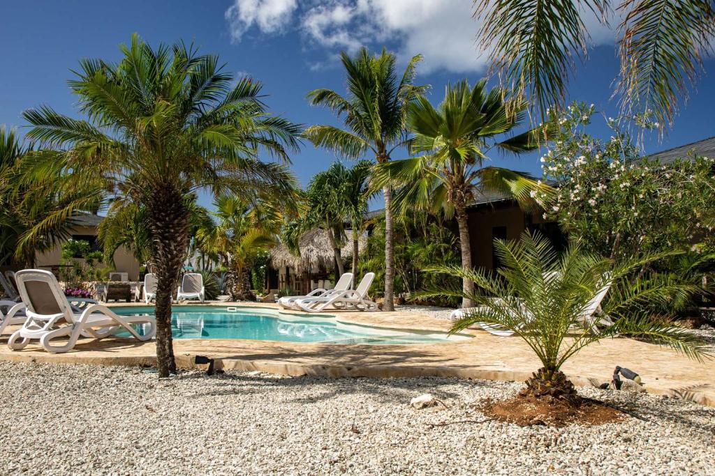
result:
[[[241,41],[252,26],[263,33],[280,31],[291,19],[296,0],[234,0],[226,10],[232,41]]]

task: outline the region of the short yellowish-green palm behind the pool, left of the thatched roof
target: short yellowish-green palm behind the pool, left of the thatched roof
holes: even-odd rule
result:
[[[260,197],[249,201],[234,195],[220,196],[212,213],[217,223],[204,223],[197,230],[199,248],[218,255],[227,269],[226,287],[232,300],[247,299],[252,260],[277,243],[282,215],[271,203]]]

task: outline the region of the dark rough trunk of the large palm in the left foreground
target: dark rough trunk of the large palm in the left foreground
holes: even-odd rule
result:
[[[182,193],[172,186],[157,187],[149,208],[149,229],[154,249],[152,268],[157,275],[157,367],[159,378],[176,373],[172,345],[172,298],[189,241],[188,211]]]

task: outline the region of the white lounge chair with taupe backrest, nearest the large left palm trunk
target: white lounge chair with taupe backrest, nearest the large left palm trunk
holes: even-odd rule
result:
[[[151,316],[120,316],[99,304],[89,304],[82,313],[75,313],[49,271],[21,270],[16,278],[27,318],[22,328],[10,336],[8,347],[12,350],[22,349],[30,340],[39,339],[48,352],[61,353],[74,348],[80,335],[101,339],[118,330],[127,330],[137,340],[149,340],[156,333],[156,320]],[[144,325],[143,334],[132,324]],[[56,338],[67,340],[64,345],[53,345],[52,340]]]

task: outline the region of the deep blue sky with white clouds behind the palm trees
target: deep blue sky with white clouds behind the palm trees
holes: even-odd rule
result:
[[[226,69],[265,84],[266,101],[275,113],[306,125],[335,123],[328,111],[305,100],[313,88],[344,91],[337,54],[365,44],[388,49],[405,61],[425,55],[418,82],[432,85],[437,103],[445,83],[485,74],[470,18],[471,0],[232,0],[232,1],[22,1],[6,2],[0,18],[4,67],[0,73],[0,124],[23,131],[21,113],[49,104],[71,115],[76,98],[66,80],[82,57],[119,59],[120,43],[139,33],[150,44],[194,41],[204,53],[218,54]],[[617,115],[611,83],[618,73],[614,35],[595,20],[593,45],[585,65],[578,65],[569,87],[573,99],[595,103],[607,116]],[[715,61],[705,62],[706,74],[691,91],[689,103],[662,142],[646,141],[646,152],[713,136],[715,83],[707,76]],[[609,136],[596,118],[592,130]],[[332,154],[305,143],[292,156],[301,183],[335,160]],[[538,156],[493,157],[494,163],[538,174]],[[202,198],[207,203],[207,198]],[[373,208],[379,206],[374,203]]]

